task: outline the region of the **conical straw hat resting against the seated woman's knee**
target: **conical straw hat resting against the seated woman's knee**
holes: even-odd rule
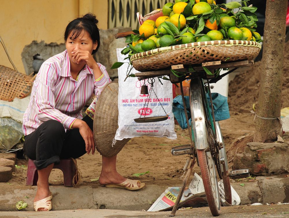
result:
[[[93,138],[96,149],[105,157],[112,157],[121,151],[129,139],[112,141],[118,128],[118,83],[108,83],[96,103],[93,120]]]

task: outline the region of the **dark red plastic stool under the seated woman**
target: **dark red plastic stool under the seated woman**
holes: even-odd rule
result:
[[[75,160],[76,161],[76,160]],[[64,186],[73,186],[72,180],[76,167],[73,159],[61,159],[60,164],[55,164],[53,169],[60,169],[63,172]],[[27,169],[26,185],[37,185],[38,172],[33,160],[29,159]]]

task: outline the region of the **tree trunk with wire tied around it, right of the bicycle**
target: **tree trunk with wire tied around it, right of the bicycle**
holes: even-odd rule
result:
[[[286,9],[287,0],[266,1],[262,74],[253,139],[255,142],[273,142],[281,135],[282,126],[278,118],[281,110]]]

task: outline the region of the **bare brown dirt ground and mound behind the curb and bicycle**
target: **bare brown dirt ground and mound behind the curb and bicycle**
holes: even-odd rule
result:
[[[289,43],[286,43],[285,51],[288,50]],[[252,138],[252,135],[249,134],[254,133],[254,116],[250,114],[250,110],[253,104],[257,103],[261,66],[262,61],[256,62],[250,68],[239,68],[238,75],[229,83],[228,103],[231,118],[220,122],[229,167],[232,167],[232,159],[236,152],[242,153],[244,151],[245,143],[238,143],[237,138],[249,136],[247,138],[247,141],[249,141]],[[284,66],[282,108],[289,107],[289,54],[285,55]],[[181,185],[180,176],[183,174],[182,168],[186,157],[172,156],[171,148],[177,145],[189,144],[190,138],[188,130],[182,130],[178,125],[175,125],[175,131],[178,137],[175,140],[149,136],[131,139],[118,154],[118,172],[125,177],[139,179],[147,184]],[[77,163],[82,173],[81,185],[99,185],[97,179],[101,172],[101,155],[97,152],[95,155],[86,154],[77,159]],[[24,166],[16,168],[9,183],[24,185],[26,183],[27,169],[25,169],[25,166],[27,166],[27,161],[18,159],[16,164]],[[144,172],[148,173],[139,177],[133,176],[133,174]],[[200,173],[197,164],[194,166],[193,172]],[[61,171],[53,169],[49,182],[51,185],[63,184]]]

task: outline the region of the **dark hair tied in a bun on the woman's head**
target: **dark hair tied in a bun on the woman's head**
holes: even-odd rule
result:
[[[71,36],[69,37],[70,39],[76,39],[79,34],[81,33],[82,30],[86,30],[92,41],[95,43],[97,42],[97,48],[92,51],[92,54],[96,53],[99,45],[100,45],[100,40],[99,40],[99,29],[97,27],[98,20],[96,19],[96,16],[88,13],[84,15],[83,17],[78,17],[68,23],[65,33],[64,33],[64,40],[66,42],[68,38],[68,34],[71,32]]]

